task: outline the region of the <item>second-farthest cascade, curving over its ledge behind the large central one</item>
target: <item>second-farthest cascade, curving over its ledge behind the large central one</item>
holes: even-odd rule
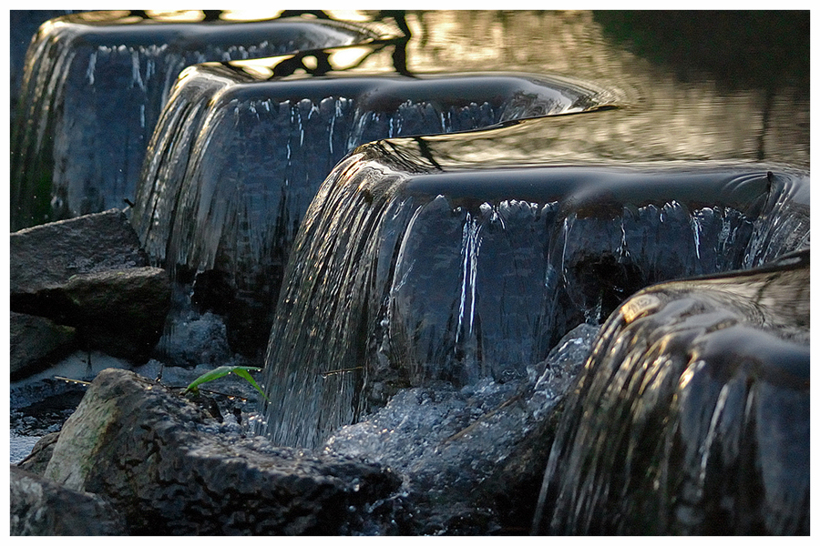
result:
[[[376,43],[202,64],[174,88],[149,147],[134,224],[154,260],[178,278],[200,274],[195,299],[213,300],[208,290],[231,294],[219,310],[232,345],[249,356],[263,350],[305,210],[350,149],[596,109],[616,96],[565,77],[373,73],[390,53]],[[334,64],[351,56],[349,71]],[[327,59],[329,68],[277,76],[309,58]]]

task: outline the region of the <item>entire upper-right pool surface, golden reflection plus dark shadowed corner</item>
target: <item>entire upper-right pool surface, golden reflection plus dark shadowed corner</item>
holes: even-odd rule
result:
[[[414,12],[407,66],[558,73],[630,97],[624,111],[550,119],[511,145],[521,157],[808,167],[808,12],[744,13]]]

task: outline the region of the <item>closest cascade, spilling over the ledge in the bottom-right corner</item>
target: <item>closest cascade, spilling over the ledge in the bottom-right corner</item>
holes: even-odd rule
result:
[[[809,254],[642,290],[610,316],[534,531],[809,531]]]

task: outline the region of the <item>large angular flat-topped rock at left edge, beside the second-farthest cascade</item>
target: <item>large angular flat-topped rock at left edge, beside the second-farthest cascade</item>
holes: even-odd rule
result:
[[[13,233],[11,271],[12,309],[76,328],[84,349],[143,362],[159,340],[169,278],[120,210]]]

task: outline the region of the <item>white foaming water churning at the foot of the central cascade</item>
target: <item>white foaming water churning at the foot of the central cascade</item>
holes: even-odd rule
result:
[[[335,431],[324,450],[401,472],[406,496],[429,512],[426,533],[487,529],[481,519],[493,508],[505,514],[500,523],[507,532],[527,529],[543,464],[525,454],[548,450],[548,443],[527,447],[528,440],[550,438],[549,416],[573,385],[598,330],[589,324],[573,329],[547,359],[528,366],[526,378],[402,389],[366,420]],[[518,494],[494,499],[497,490]],[[520,515],[510,517],[516,511]]]

